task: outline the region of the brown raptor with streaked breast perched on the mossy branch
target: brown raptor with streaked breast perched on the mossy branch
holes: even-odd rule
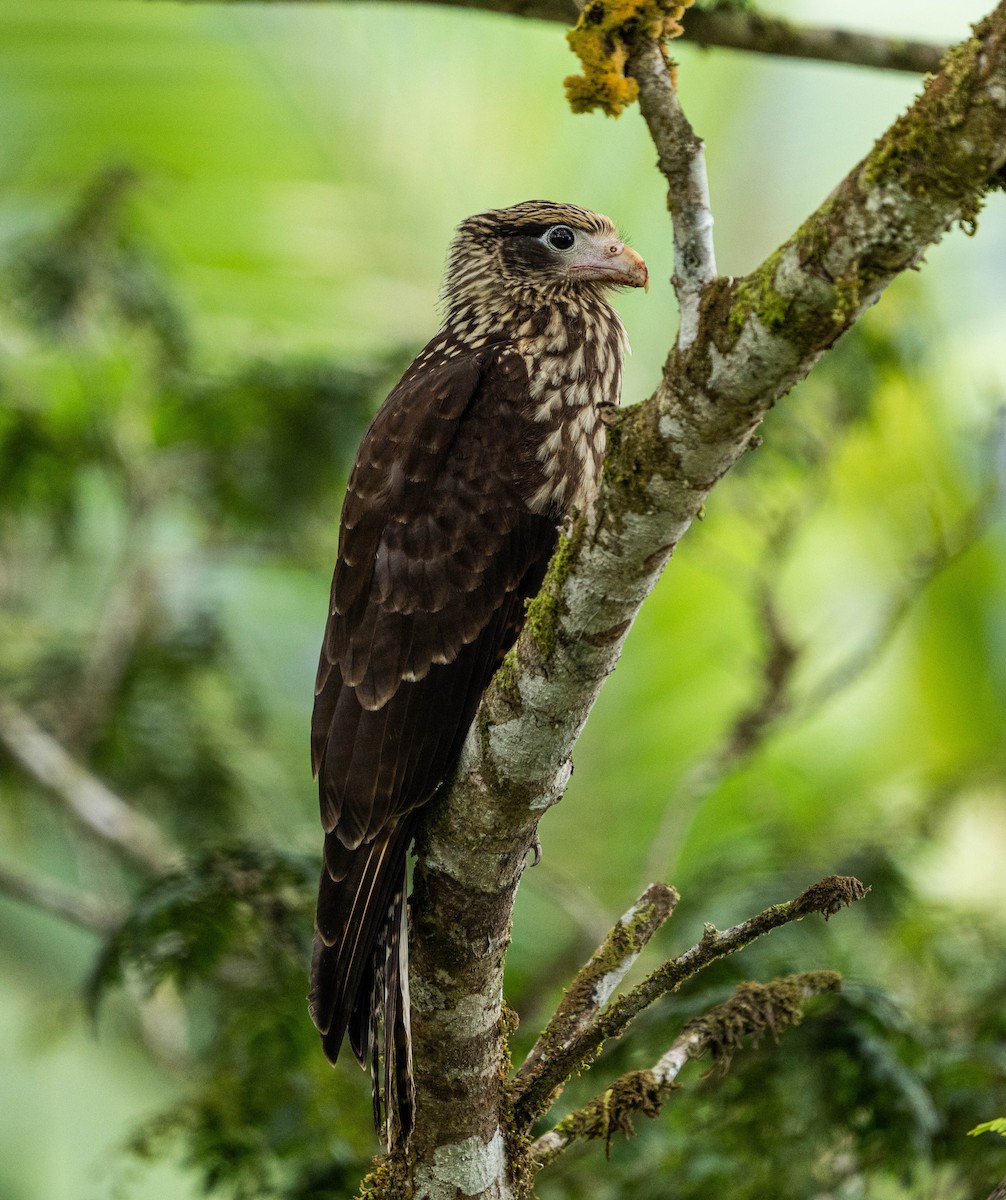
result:
[[[370,1064],[389,1147],[415,1117],[409,845],[562,522],[598,486],[628,348],[607,299],[621,287],[648,274],[605,216],[526,200],[462,221],[443,323],[349,474],[311,721],[324,860],[309,1009],[333,1063],[348,1034]]]

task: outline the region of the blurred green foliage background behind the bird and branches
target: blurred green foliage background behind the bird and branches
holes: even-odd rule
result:
[[[945,40],[982,13],[839,8],[778,11]],[[679,58],[729,274],[916,88]],[[472,13],[0,0],[0,692],[184,851],[155,881],[0,750],[0,865],[116,929],[0,896],[5,1200],[348,1196],[376,1148],[303,1001],[341,487],[479,209],[615,216],[657,282],[619,300],[625,400],[655,382],[661,181],[637,114],[570,115],[571,62],[557,29]],[[665,950],[819,875],[874,890],[664,1003],[611,1076],[741,978],[845,991],[725,1079],[691,1068],[543,1198],[963,1200],[1006,1172],[965,1138],[1006,1109],[1004,268],[1000,198],[773,414],[645,608],[519,899],[517,1051],[657,877],[683,894]]]

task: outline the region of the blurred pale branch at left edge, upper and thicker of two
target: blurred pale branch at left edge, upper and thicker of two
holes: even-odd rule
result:
[[[0,744],[89,833],[158,874],[176,865],[178,851],[149,817],[131,809],[5,696],[0,696]]]

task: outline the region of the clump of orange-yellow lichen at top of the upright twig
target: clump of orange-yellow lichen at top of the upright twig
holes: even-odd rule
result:
[[[693,0],[589,0],[567,35],[583,73],[563,80],[574,113],[600,108],[621,116],[639,94],[625,64],[641,37],[666,41],[682,32]]]

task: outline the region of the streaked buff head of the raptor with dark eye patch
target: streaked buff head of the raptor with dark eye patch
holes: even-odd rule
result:
[[[525,200],[457,227],[444,276],[444,301],[534,307],[607,288],[647,288],[646,263],[612,222],[574,204]]]

